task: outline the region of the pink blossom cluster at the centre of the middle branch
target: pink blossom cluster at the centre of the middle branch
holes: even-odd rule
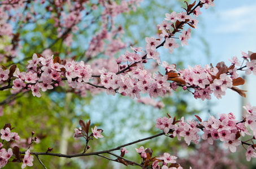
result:
[[[127,74],[115,74],[105,68],[99,70],[101,73],[101,83],[107,88],[107,92],[115,95],[129,95],[132,98],[140,99],[140,94],[149,94],[150,97],[163,97],[166,91],[170,90],[170,83],[167,82],[167,75],[148,73],[141,68],[134,68]]]

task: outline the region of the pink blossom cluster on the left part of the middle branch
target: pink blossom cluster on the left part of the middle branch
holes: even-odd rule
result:
[[[37,57],[37,54],[34,54],[33,59],[29,60],[28,63],[27,72],[20,72],[19,68],[16,69],[12,88],[31,90],[33,96],[37,97],[41,96],[40,90],[45,92],[57,86],[64,86],[62,77],[66,77],[67,83],[72,87],[76,87],[76,84],[83,86],[83,82],[87,83],[92,78],[90,65],[86,65],[83,61],[61,63],[61,61],[54,61],[53,55]],[[5,80],[8,78],[8,71],[2,72],[0,75]]]

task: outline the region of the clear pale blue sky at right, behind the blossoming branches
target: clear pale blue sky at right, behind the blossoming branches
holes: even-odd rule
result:
[[[197,54],[197,64],[216,65],[219,61],[224,61],[230,65],[228,58],[237,56],[240,61],[241,51],[256,52],[256,1],[214,1],[215,7],[210,7],[208,10],[201,10],[203,14],[199,16],[199,21],[202,26],[198,25],[195,33],[201,33],[210,46],[210,57],[205,57],[205,54],[193,51]],[[191,40],[191,41],[190,41]],[[198,38],[190,39],[189,43],[199,41]],[[244,72],[240,73],[241,75]],[[256,106],[256,77],[251,74],[246,79],[247,90],[246,102]],[[239,87],[241,88],[241,87]],[[229,113],[233,112],[237,116],[241,113],[242,97],[232,90],[228,90],[223,99],[216,99],[212,95],[211,106],[214,113]],[[197,106],[206,106],[205,101],[194,100],[193,104]],[[240,117],[238,117],[240,118]]]

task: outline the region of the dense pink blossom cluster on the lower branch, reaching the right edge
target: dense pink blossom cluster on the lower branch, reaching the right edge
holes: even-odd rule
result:
[[[233,153],[236,152],[236,147],[241,144],[249,145],[248,151],[246,152],[246,159],[249,161],[250,158],[256,157],[256,149],[254,144],[248,144],[242,142],[238,138],[240,136],[251,135],[248,128],[253,131],[253,139],[256,137],[256,107],[251,107],[250,104],[244,106],[248,114],[243,121],[237,121],[233,113],[219,114],[219,118],[210,116],[208,121],[198,123],[197,121],[184,121],[184,117],[179,121],[175,121],[173,118],[163,117],[157,118],[155,127],[163,130],[165,134],[172,134],[173,137],[177,136],[178,140],[184,137],[186,144],[190,144],[193,141],[198,144],[199,135],[198,132],[201,129],[204,134],[202,135],[203,140],[207,140],[209,144],[213,144],[214,140],[220,140],[224,142],[223,147],[229,148]],[[200,119],[201,120],[201,119]]]

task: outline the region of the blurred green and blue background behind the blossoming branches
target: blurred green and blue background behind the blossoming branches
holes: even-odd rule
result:
[[[115,2],[120,4],[120,1]],[[189,2],[193,3],[193,1]],[[226,0],[214,1],[214,3],[215,7],[207,10],[201,8],[202,15],[198,17],[198,29],[192,30],[192,39],[189,39],[188,46],[180,46],[172,55],[164,48],[158,49],[162,60],[170,64],[175,63],[181,69],[196,64],[204,66],[212,63],[215,66],[220,61],[230,65],[228,58],[231,59],[233,56],[237,56],[242,61],[241,51],[256,52],[256,16],[254,15],[256,2]],[[107,39],[104,50],[92,56],[92,53],[88,52],[90,42],[93,35],[97,35],[102,30],[101,12],[104,10],[97,1],[85,4],[85,10],[81,11],[82,20],[76,25],[78,30],[72,30],[73,32],[64,27],[59,31],[59,27],[54,26],[57,22],[54,16],[57,16],[59,11],[54,8],[52,1],[46,1],[44,4],[37,1],[24,3],[24,6],[9,12],[9,15],[13,16],[23,14],[17,20],[10,20],[13,32],[19,33],[19,46],[15,48],[15,53],[12,52],[13,57],[1,55],[0,61],[3,65],[16,64],[24,71],[27,61],[32,59],[33,53],[36,52],[58,55],[62,59],[83,60],[92,64],[93,69],[97,71],[97,64],[102,65],[99,61],[106,62],[106,58],[109,57],[108,47],[120,43],[119,39],[125,42],[123,48],[113,54],[114,58],[129,50],[130,45],[144,47],[145,37],[158,36],[157,24],[162,23],[165,13],[181,12],[183,11],[181,6],[185,7],[184,1],[140,2],[140,7],[137,7],[136,11],[124,12],[113,18],[116,28],[122,26],[125,33],[122,34],[120,31],[112,37],[112,40]],[[53,10],[50,11],[49,8]],[[68,12],[69,7],[65,3],[63,8],[64,12]],[[34,9],[38,15],[33,16],[31,9]],[[64,15],[60,17],[63,20],[65,18]],[[59,34],[64,35],[59,38]],[[6,54],[6,46],[14,44],[6,35],[1,35],[0,38],[0,53]],[[113,42],[114,40],[116,41]],[[153,68],[152,71],[158,71],[153,61],[147,65]],[[163,68],[159,68],[159,72],[164,72]],[[241,72],[241,75],[243,74],[244,72]],[[34,131],[39,139],[32,145],[31,151],[46,152],[50,147],[53,148],[54,153],[73,154],[83,152],[85,145],[83,139],[74,141],[74,128],[80,127],[79,119],[84,121],[90,119],[92,127],[97,125],[104,130],[103,139],[94,139],[89,143],[88,152],[94,152],[158,134],[160,131],[154,127],[155,119],[166,116],[166,113],[177,118],[185,116],[185,119],[196,119],[193,115],[197,114],[204,121],[209,118],[209,114],[218,116],[218,113],[233,112],[238,119],[241,119],[242,106],[247,103],[256,106],[255,81],[254,75],[246,76],[244,90],[249,91],[246,93],[246,99],[228,90],[223,99],[218,100],[212,95],[210,101],[202,101],[194,99],[192,94],[179,88],[171,95],[158,97],[152,105],[138,103],[136,99],[132,100],[130,97],[107,95],[89,87],[86,88],[88,91],[79,91],[72,90],[66,85],[41,92],[40,98],[33,97],[31,92],[26,91],[19,94],[15,91],[1,91],[1,125],[11,123],[12,127],[16,127],[14,132],[18,132],[21,137],[18,143],[10,143],[11,147],[19,145],[20,149],[27,149],[31,132]],[[144,95],[144,97],[149,96]],[[159,109],[156,105],[164,106]],[[231,154],[228,149],[222,148],[222,143],[216,142],[212,146],[207,143],[198,145],[192,143],[187,146],[183,139],[179,141],[165,136],[126,147],[129,153],[125,154],[125,158],[140,163],[140,157],[134,149],[140,146],[153,149],[153,156],[164,152],[176,155],[179,157],[177,162],[184,168],[256,167],[255,161],[246,162],[245,150],[242,147]],[[118,155],[119,153],[116,152]],[[125,167],[94,156],[72,159],[47,156],[40,158],[49,168],[139,168]],[[36,158],[33,163],[33,168],[42,168]],[[6,168],[20,165],[8,163]]]

